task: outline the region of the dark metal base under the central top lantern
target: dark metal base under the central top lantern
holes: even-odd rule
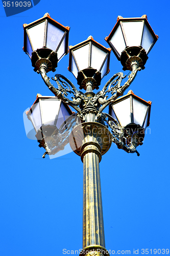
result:
[[[93,68],[87,68],[79,71],[77,77],[77,83],[80,89],[87,89],[87,86],[91,85],[92,90],[99,89],[101,84],[101,72]]]

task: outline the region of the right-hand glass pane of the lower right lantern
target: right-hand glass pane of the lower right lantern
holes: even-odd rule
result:
[[[133,98],[133,119],[134,123],[142,126],[145,114],[147,112],[147,105]]]

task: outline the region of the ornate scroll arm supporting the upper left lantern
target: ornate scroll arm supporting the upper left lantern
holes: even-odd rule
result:
[[[40,75],[41,75],[44,83],[48,87],[48,89],[50,89],[50,91],[52,91],[52,93],[54,93],[54,95],[57,98],[61,99],[68,105],[72,106],[72,108],[74,108],[79,113],[80,118],[83,118],[82,111],[78,107],[82,101],[82,98],[84,97],[83,93],[78,91],[76,89],[76,87],[74,86],[74,84],[72,84],[66,77],[64,77],[63,75],[59,75],[59,74],[55,75],[55,78],[52,77],[52,79],[57,82],[58,89],[55,88],[53,86],[53,84],[50,82],[50,78],[46,75],[45,67],[41,67],[39,69],[38,73],[40,73]],[[66,82],[61,80],[60,78],[64,79]],[[69,85],[74,92],[71,91]],[[71,97],[72,100],[69,100],[68,98],[65,97],[68,95],[68,93],[74,94],[74,97]]]

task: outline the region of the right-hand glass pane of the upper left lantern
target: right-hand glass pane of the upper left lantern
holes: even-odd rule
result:
[[[64,31],[56,28],[54,25],[48,22],[46,47],[52,49],[53,51],[56,51],[56,48],[59,45],[59,42],[61,41],[63,35]]]

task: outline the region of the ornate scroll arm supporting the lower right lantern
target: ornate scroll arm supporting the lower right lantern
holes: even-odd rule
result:
[[[107,117],[108,117],[108,120],[107,120]],[[136,153],[137,156],[139,156],[140,154],[136,150],[135,143],[126,145],[123,142],[123,138],[124,138],[123,127],[121,127],[119,125],[119,123],[112,116],[110,116],[107,113],[102,113],[102,118],[105,121],[106,126],[107,127],[109,126],[111,128],[112,142],[114,142],[119,149],[124,150],[127,153]],[[124,140],[125,140],[125,138],[124,138]]]

